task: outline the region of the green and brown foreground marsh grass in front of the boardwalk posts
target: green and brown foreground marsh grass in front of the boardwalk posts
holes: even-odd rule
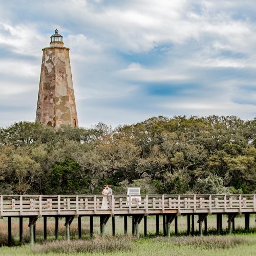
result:
[[[132,236],[105,236],[87,240],[47,242],[31,246],[0,248],[1,255],[104,255],[104,256],[193,256],[255,255],[256,234],[205,237],[154,237],[135,239]]]

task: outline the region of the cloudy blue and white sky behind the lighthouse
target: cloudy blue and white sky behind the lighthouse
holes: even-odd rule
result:
[[[55,29],[81,127],[256,116],[255,0],[0,0],[0,127],[35,121]]]

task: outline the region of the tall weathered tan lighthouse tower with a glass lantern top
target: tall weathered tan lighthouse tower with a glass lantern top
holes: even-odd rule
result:
[[[36,110],[36,122],[53,127],[78,126],[69,48],[55,30],[50,47],[42,49],[42,66]]]

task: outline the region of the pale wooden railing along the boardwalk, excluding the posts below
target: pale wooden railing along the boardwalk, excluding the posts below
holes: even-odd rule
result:
[[[193,214],[256,212],[256,195],[127,195],[112,196],[108,210],[101,195],[0,196],[0,216]]]

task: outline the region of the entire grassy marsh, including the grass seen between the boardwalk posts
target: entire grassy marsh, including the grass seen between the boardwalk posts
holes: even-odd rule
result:
[[[209,216],[207,220],[208,235],[204,237],[185,236],[186,217],[178,217],[179,236],[174,236],[174,223],[171,230],[173,236],[168,239],[165,237],[155,237],[156,219],[148,217],[147,229],[148,237],[143,238],[143,221],[140,224],[139,240],[131,236],[132,218],[128,218],[128,236],[123,236],[123,218],[116,217],[116,237],[112,237],[111,219],[106,225],[106,236],[99,236],[99,219],[94,218],[95,238],[90,239],[90,223],[88,217],[82,218],[82,239],[78,239],[77,220],[74,220],[70,227],[71,241],[65,241],[64,220],[59,221],[59,242],[54,241],[55,222],[53,218],[48,219],[48,242],[43,241],[43,222],[38,220],[36,224],[36,244],[0,248],[0,255],[255,255],[256,251],[256,232],[255,215],[250,218],[250,232],[245,233],[244,218],[236,218],[236,232],[226,235],[227,217],[223,217],[223,235],[213,235],[216,227],[216,216]],[[160,218],[160,233],[162,232],[162,219]],[[196,224],[196,218],[195,218]],[[198,225],[195,226],[198,231]],[[13,243],[18,244],[18,219],[13,222],[12,234]],[[7,220],[0,221],[0,241],[4,245],[7,242]],[[29,241],[28,220],[24,219],[24,241]]]

